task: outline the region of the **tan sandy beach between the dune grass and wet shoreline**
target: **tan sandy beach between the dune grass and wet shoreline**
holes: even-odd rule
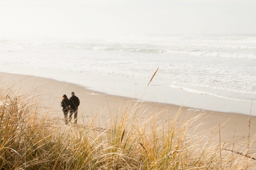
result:
[[[81,104],[78,112],[78,122],[83,124],[86,121],[90,121],[96,115],[101,119],[101,122],[105,122],[115,115],[116,110],[130,104],[130,107],[138,104],[137,99],[130,99],[127,97],[106,95],[104,93],[88,90],[84,87],[76,84],[56,81],[53,79],[25,76],[11,73],[0,72],[1,85],[8,86],[18,82],[15,88],[19,88],[21,92],[29,92],[31,89],[40,90],[42,94],[40,100],[45,107],[51,107],[54,112],[50,112],[52,119],[63,121],[63,113],[60,107],[60,101],[63,94],[70,97],[72,91],[79,97]],[[22,81],[20,81],[22,80]],[[156,103],[156,102],[142,102],[140,108],[140,116],[146,118],[147,115],[153,115],[159,113],[163,119],[171,119],[172,116],[179,110],[179,105]],[[235,136],[237,139],[248,140],[248,115],[238,114],[236,118],[235,113],[217,112],[217,111],[196,111],[192,108],[182,107],[180,112],[180,118],[191,115],[197,116],[200,113],[205,113],[197,121],[202,125],[198,130],[212,130],[212,128],[218,127],[220,124],[221,135],[225,136],[227,140],[234,135],[234,129],[236,130]],[[236,122],[236,128],[235,128]],[[64,123],[63,123],[64,124]],[[197,124],[194,124],[195,126]],[[256,117],[251,116],[250,119],[250,136],[256,133]],[[256,146],[253,143],[250,151],[255,151]],[[253,151],[252,151],[253,150]]]

